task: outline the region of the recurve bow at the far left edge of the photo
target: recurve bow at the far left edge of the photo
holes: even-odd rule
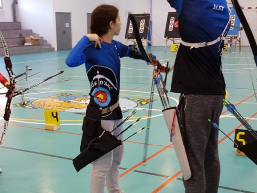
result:
[[[4,49],[4,55],[5,55],[4,62],[5,62],[6,70],[8,72],[9,77],[10,77],[10,85],[8,86],[8,92],[6,93],[7,102],[6,102],[5,112],[4,112],[4,116],[3,116],[4,128],[3,128],[3,132],[2,132],[2,135],[1,135],[1,139],[0,139],[0,148],[1,148],[2,142],[3,142],[4,137],[5,137],[6,130],[7,130],[7,127],[8,127],[10,115],[11,115],[10,106],[11,106],[11,99],[12,99],[13,93],[15,91],[15,79],[14,79],[14,74],[12,72],[12,63],[11,63],[7,43],[4,39],[1,31],[0,31],[0,39],[2,41],[2,45],[3,45],[3,49]]]

